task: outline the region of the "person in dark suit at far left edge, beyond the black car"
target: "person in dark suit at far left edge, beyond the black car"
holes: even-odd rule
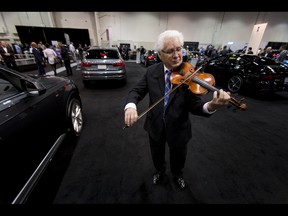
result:
[[[18,71],[13,48],[6,41],[0,41],[0,55],[8,68]]]

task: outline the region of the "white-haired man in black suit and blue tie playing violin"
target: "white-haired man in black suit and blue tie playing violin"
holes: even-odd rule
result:
[[[170,170],[180,189],[186,187],[183,169],[187,155],[187,144],[192,138],[189,114],[209,117],[230,100],[230,93],[215,91],[210,101],[201,98],[183,85],[170,93],[165,92],[166,71],[173,71],[183,64],[183,34],[167,30],[158,36],[155,44],[161,62],[147,68],[142,79],[129,91],[124,108],[125,125],[133,126],[139,119],[137,104],[149,94],[149,105],[156,106],[146,116],[144,129],[149,135],[152,161],[156,172],[153,184],[159,184],[166,172],[165,145],[169,146]],[[189,73],[191,74],[191,73]],[[185,74],[185,77],[189,75]],[[169,80],[169,79],[168,79]],[[167,105],[164,107],[166,96]],[[159,103],[159,99],[163,98]]]

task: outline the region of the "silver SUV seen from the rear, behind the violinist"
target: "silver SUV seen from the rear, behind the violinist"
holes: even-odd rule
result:
[[[119,80],[126,83],[126,65],[114,47],[91,47],[80,63],[85,86],[96,80]]]

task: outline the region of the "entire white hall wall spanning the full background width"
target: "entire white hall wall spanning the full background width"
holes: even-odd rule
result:
[[[154,48],[166,29],[183,32],[185,41],[222,46],[248,43],[255,24],[268,23],[261,45],[288,41],[288,12],[0,12],[0,39],[17,39],[15,25],[88,29],[91,45],[129,42]],[[2,19],[2,20],[1,20]],[[2,23],[3,21],[3,23]],[[109,29],[110,43],[106,38]],[[19,38],[18,38],[19,39]]]

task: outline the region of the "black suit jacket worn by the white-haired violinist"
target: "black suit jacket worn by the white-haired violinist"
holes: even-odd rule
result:
[[[149,93],[149,107],[164,96],[164,65],[162,62],[147,68],[147,72],[129,92],[127,103],[138,104]],[[163,100],[146,116],[144,129],[154,140],[159,140],[166,123],[167,141],[170,145],[186,144],[192,137],[189,113],[209,117],[203,112],[204,102],[193,94],[186,84],[181,85],[169,96],[165,121],[163,120]]]

